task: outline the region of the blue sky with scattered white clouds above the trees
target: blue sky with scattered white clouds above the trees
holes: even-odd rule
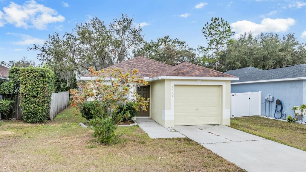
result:
[[[134,17],[147,41],[170,35],[190,47],[206,46],[201,29],[211,17],[228,21],[234,37],[240,33],[294,33],[306,42],[306,1],[291,0],[0,0],[0,61],[23,56],[40,63],[32,44],[49,34],[71,32],[76,23],[98,17],[109,24],[121,13]]]

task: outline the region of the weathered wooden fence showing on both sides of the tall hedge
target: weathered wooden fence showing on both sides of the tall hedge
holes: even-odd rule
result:
[[[22,119],[22,112],[20,104],[19,94],[16,96],[14,104],[14,114],[12,118]],[[58,92],[52,93],[51,95],[51,105],[50,105],[50,120],[53,120],[58,113],[64,110],[69,105],[69,92]]]

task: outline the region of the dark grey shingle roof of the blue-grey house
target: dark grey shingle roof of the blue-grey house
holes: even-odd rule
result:
[[[251,68],[251,70],[247,70],[246,68],[230,70],[226,73],[239,77],[239,81],[233,80],[233,83],[306,79],[304,78],[306,77],[306,64],[290,65],[267,70]]]

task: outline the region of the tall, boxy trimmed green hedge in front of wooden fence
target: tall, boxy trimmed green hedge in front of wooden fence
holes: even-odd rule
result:
[[[26,122],[45,122],[50,114],[54,72],[47,68],[20,68],[20,106]]]

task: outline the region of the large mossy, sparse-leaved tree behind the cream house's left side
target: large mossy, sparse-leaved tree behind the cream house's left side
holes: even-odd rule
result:
[[[132,58],[130,52],[143,41],[142,30],[133,25],[133,18],[122,14],[107,27],[99,18],[76,24],[72,32],[49,35],[43,45],[33,45],[37,58],[48,65],[61,80],[57,88],[73,88],[75,78]],[[64,84],[66,81],[66,85]],[[63,90],[65,91],[65,90]]]

